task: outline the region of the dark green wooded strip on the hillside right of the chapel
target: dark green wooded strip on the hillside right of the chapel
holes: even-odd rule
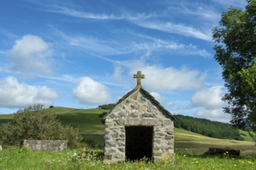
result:
[[[239,131],[232,128],[230,124],[180,114],[175,115],[175,118],[175,128],[184,128],[187,131],[192,131],[211,138],[244,140],[244,138],[240,136]]]

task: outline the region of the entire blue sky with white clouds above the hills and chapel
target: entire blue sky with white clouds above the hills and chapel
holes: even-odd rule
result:
[[[172,114],[228,122],[212,29],[245,0],[0,2],[0,114],[92,108],[142,86]]]

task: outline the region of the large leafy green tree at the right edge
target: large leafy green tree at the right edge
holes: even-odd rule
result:
[[[220,26],[213,29],[215,59],[223,68],[227,93],[223,97],[238,128],[251,126],[256,131],[256,0],[247,0],[245,9],[223,12]]]

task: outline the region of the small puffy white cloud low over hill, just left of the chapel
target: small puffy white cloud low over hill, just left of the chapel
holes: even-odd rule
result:
[[[73,95],[81,104],[107,104],[110,102],[107,87],[89,77],[81,78],[78,86],[73,90]]]

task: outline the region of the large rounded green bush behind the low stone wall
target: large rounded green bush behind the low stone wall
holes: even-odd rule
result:
[[[24,139],[34,140],[67,140],[70,148],[80,144],[78,129],[63,126],[54,112],[33,105],[17,111],[12,121],[0,127],[0,141],[4,145],[19,145]]]

